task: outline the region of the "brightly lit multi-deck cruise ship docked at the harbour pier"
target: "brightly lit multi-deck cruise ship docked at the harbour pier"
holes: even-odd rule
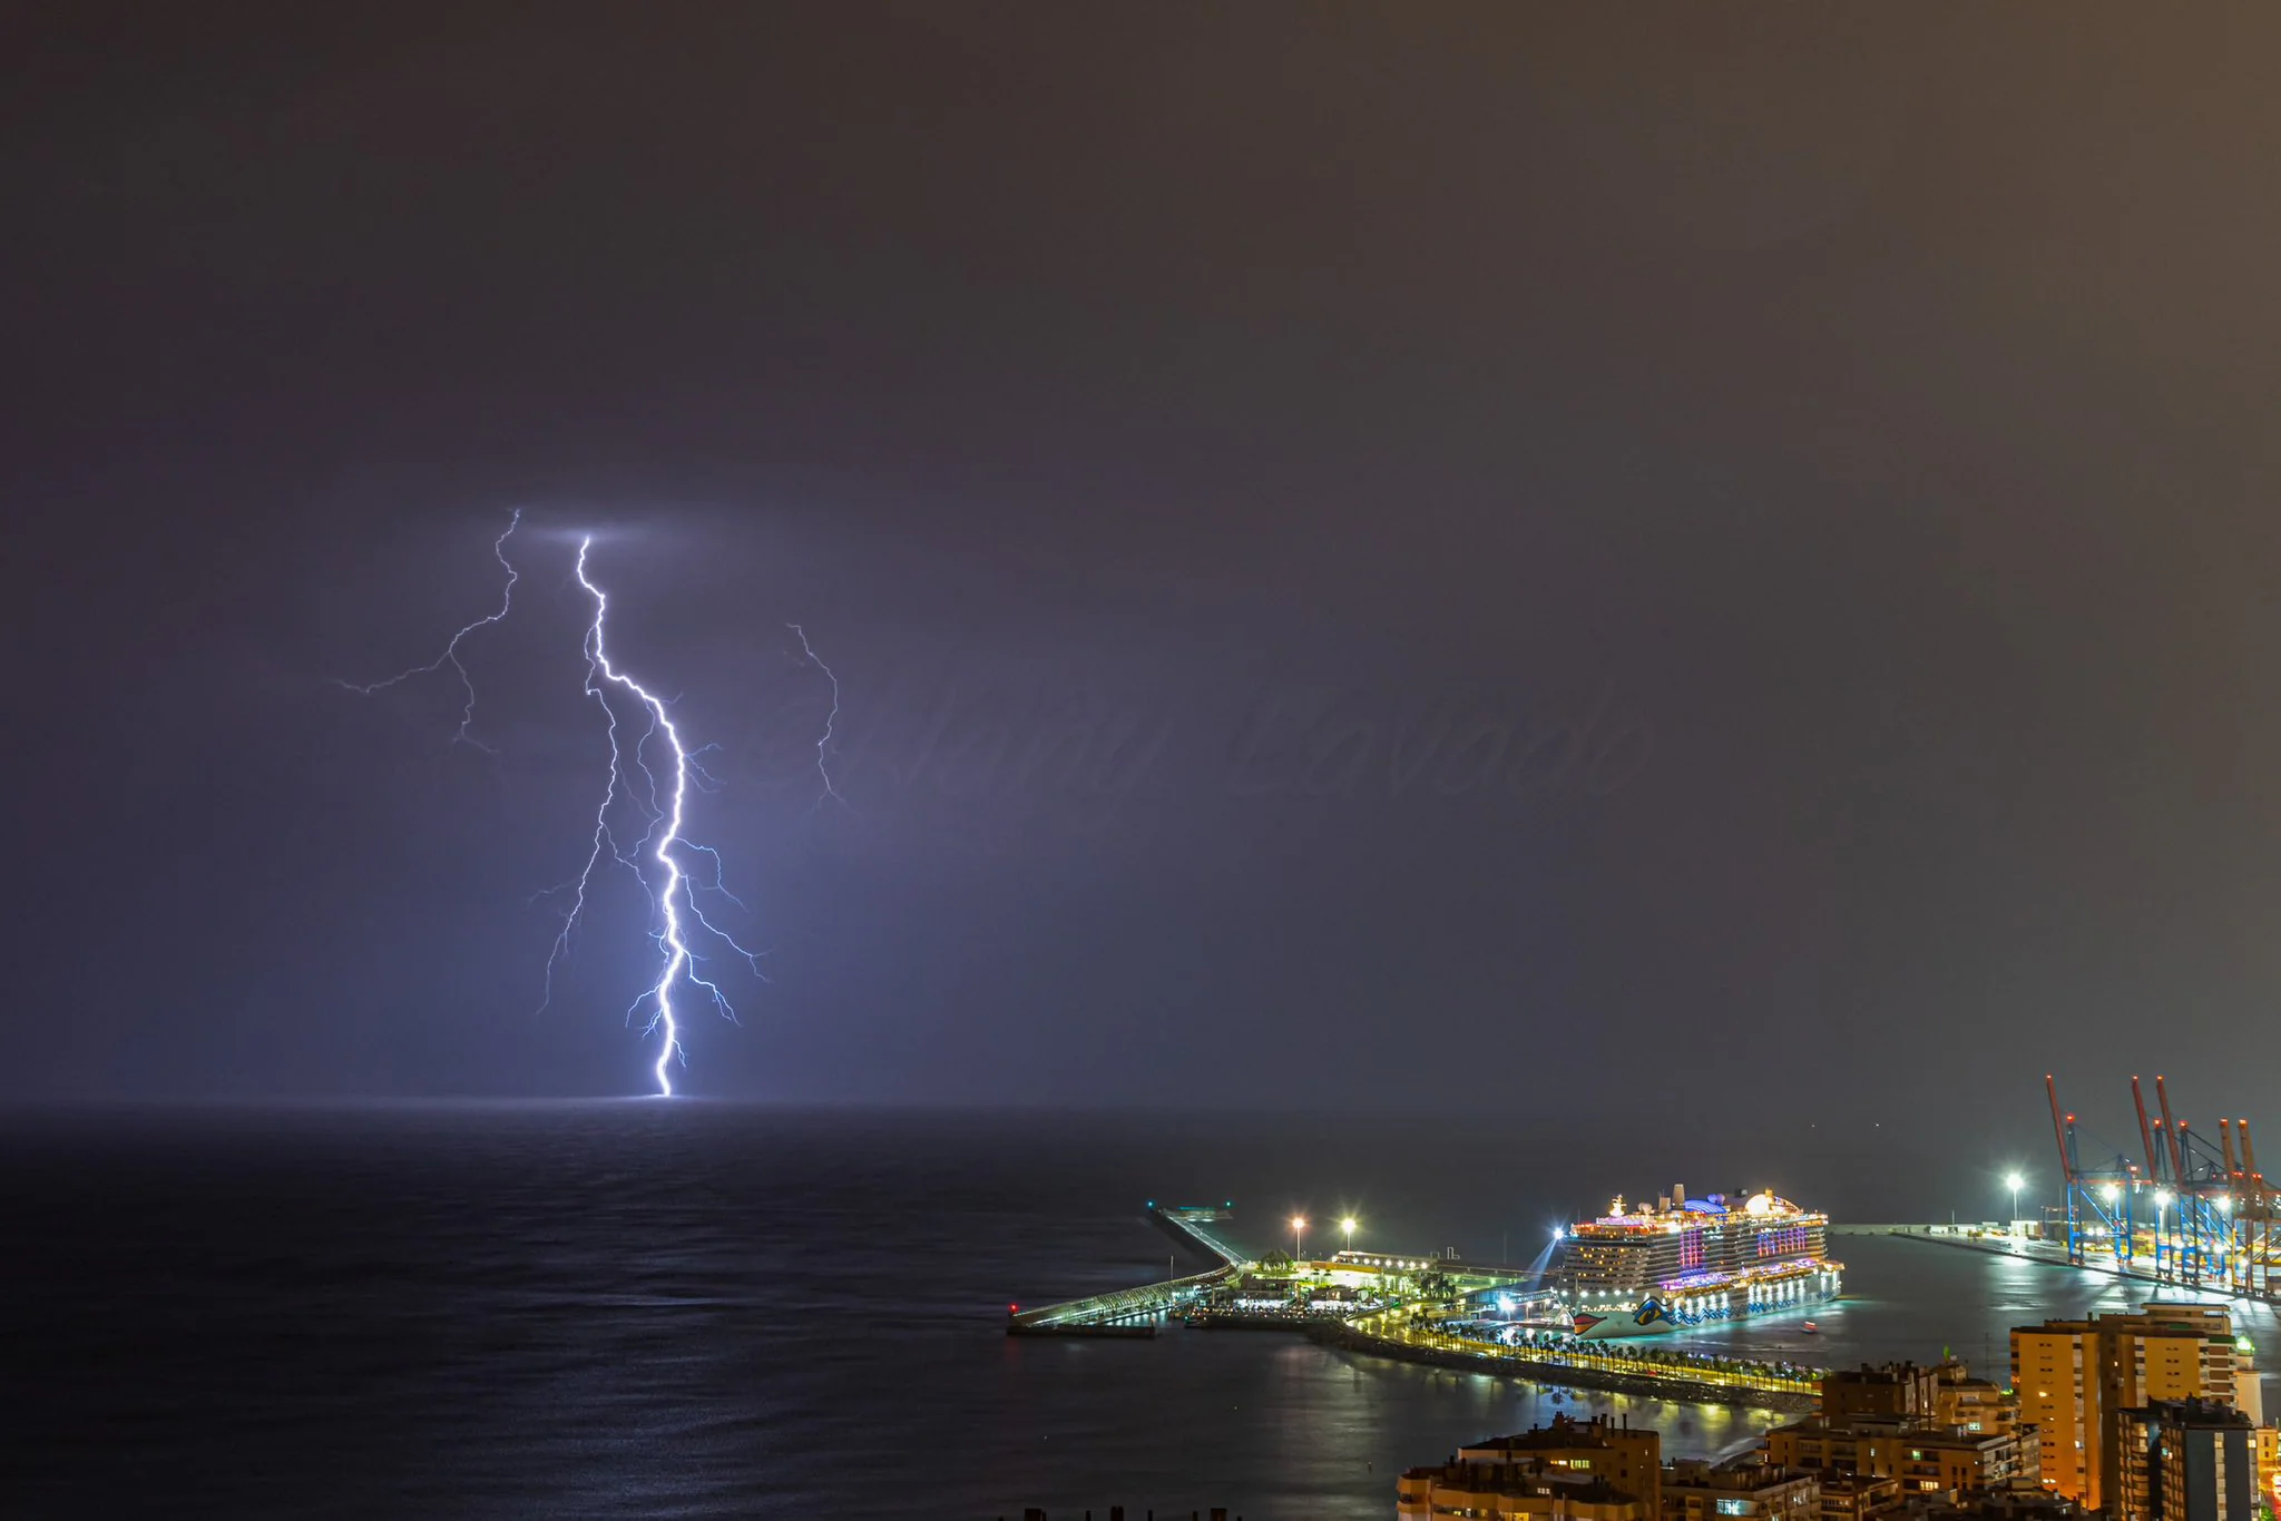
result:
[[[1615,1199],[1562,1231],[1549,1275],[1576,1336],[1663,1336],[1699,1325],[1804,1309],[1838,1295],[1829,1215],[1772,1193],[1683,1188],[1651,1204]]]

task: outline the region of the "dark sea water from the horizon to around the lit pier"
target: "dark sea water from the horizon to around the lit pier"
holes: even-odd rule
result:
[[[1987,1193],[1880,1147],[691,1101],[18,1120],[0,1514],[1298,1521],[1391,1516],[1398,1469],[1556,1409],[1724,1453],[1772,1416],[1282,1334],[1013,1341],[1004,1316],[1161,1277],[1147,1197],[1236,1199],[1261,1243],[1355,1209],[1357,1245],[1533,1256],[1624,1186],[1736,1172],[1884,1220]],[[1843,1254],[1818,1336],[1729,1336],[1820,1364],[1950,1345],[2000,1377],[2005,1327],[2130,1298],[1923,1243]],[[2272,1316],[2247,1329],[2270,1366]]]

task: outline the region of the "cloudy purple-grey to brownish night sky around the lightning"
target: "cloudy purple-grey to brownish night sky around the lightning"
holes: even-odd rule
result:
[[[769,949],[689,1092],[2260,1113],[2276,43],[32,7],[0,1088],[643,1092],[630,880],[536,1012],[593,531]],[[493,753],[331,684],[518,506]]]

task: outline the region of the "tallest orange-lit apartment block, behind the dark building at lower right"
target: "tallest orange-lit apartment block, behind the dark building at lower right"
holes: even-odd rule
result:
[[[2117,1412],[2153,1400],[2235,1398],[2233,1318],[2219,1304],[2151,1302],[2133,1313],[2012,1332],[2019,1418],[2041,1434],[2044,1487],[2085,1510],[2110,1503]]]

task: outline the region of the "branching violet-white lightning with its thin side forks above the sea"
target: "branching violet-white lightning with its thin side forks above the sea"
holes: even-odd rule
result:
[[[433,675],[445,666],[449,666],[458,675],[461,691],[465,693],[454,743],[465,741],[488,753],[490,746],[484,746],[472,734],[474,680],[461,664],[458,650],[470,634],[490,627],[495,623],[502,623],[513,611],[513,593],[518,575],[516,566],[506,559],[506,540],[513,538],[520,524],[522,524],[522,511],[516,509],[513,518],[506,524],[506,531],[500,534],[500,538],[490,547],[493,556],[506,570],[506,588],[500,595],[500,611],[477,618],[474,623],[461,627],[456,634],[452,634],[449,643],[445,643],[443,654],[438,654],[424,666],[411,666],[383,682],[342,682],[338,677],[335,682],[354,693],[370,698],[399,682],[408,682],[411,677],[417,675]],[[712,924],[696,898],[698,892],[714,892],[734,903],[737,908],[744,908],[737,894],[728,889],[721,853],[714,851],[712,846],[698,844],[682,835],[691,780],[696,780],[698,789],[703,791],[712,791],[719,787],[719,782],[714,782],[714,778],[707,775],[705,766],[700,764],[700,757],[707,750],[712,750],[712,746],[700,746],[696,750],[684,746],[682,732],[673,723],[673,705],[666,698],[650,691],[648,686],[643,686],[641,682],[636,682],[627,670],[623,670],[611,659],[607,643],[609,595],[586,572],[586,556],[591,550],[593,550],[593,536],[588,534],[586,538],[579,540],[577,547],[577,584],[586,591],[588,597],[593,597],[593,620],[586,625],[586,639],[584,639],[586,696],[602,707],[602,718],[609,734],[609,775],[604,778],[602,784],[602,803],[600,807],[595,807],[593,814],[593,835],[586,851],[586,864],[568,882],[550,887],[536,894],[534,898],[536,903],[538,898],[550,898],[554,894],[563,892],[570,894],[570,908],[563,914],[561,933],[557,933],[554,946],[547,951],[545,997],[541,999],[541,1010],[545,1010],[545,1006],[554,997],[557,967],[563,965],[563,960],[568,958],[570,937],[586,917],[586,901],[588,901],[588,889],[593,887],[595,871],[604,869],[604,862],[625,867],[634,876],[634,880],[641,882],[641,892],[650,901],[650,914],[652,914],[650,940],[657,944],[659,951],[657,978],[627,1008],[627,1019],[632,1019],[634,1012],[641,1008],[650,1010],[650,1019],[643,1026],[643,1035],[659,1035],[657,1065],[652,1067],[657,1076],[657,1092],[661,1097],[673,1097],[673,1072],[671,1072],[673,1063],[687,1065],[687,1054],[682,1051],[682,1038],[680,1038],[682,1031],[680,1012],[673,1006],[673,994],[682,987],[703,990],[705,997],[712,999],[712,1006],[725,1019],[730,1022],[737,1019],[737,1010],[730,1008],[728,994],[721,992],[719,983],[714,983],[703,974],[705,958],[689,944],[691,926],[696,930],[703,930],[712,940],[721,942],[737,955],[741,955],[744,962],[753,969],[753,976],[760,976],[762,981],[766,981],[766,976],[760,969],[760,955],[755,951],[744,949],[741,944],[737,944],[732,935]],[[839,796],[839,789],[833,784],[833,773],[830,773],[833,734],[839,723],[839,677],[833,673],[830,666],[823,664],[823,659],[807,643],[807,634],[801,629],[801,625],[794,623],[787,627],[792,627],[792,632],[801,639],[801,650],[807,657],[807,661],[814,664],[817,670],[821,670],[833,686],[833,707],[828,718],[823,721],[823,737],[817,741],[817,775],[823,782],[823,791],[817,796],[817,807],[823,805],[823,798],[833,798],[842,807],[846,807],[846,798]],[[611,693],[620,693],[618,700],[611,700]],[[643,732],[632,739],[627,737],[630,730],[620,721],[623,718],[620,707],[625,707],[627,702],[641,709],[648,718]],[[650,764],[652,746],[661,750],[659,764],[655,768]],[[632,775],[634,771],[641,773],[639,787]],[[659,775],[659,771],[664,771],[664,775]],[[639,841],[632,844],[632,848],[627,848],[627,844],[620,839],[618,830],[611,823],[614,816],[623,816],[627,810],[632,810],[641,821],[641,837]],[[705,880],[703,876],[691,876],[691,871],[684,867],[684,860],[693,855],[705,855],[712,862],[709,880]]]

